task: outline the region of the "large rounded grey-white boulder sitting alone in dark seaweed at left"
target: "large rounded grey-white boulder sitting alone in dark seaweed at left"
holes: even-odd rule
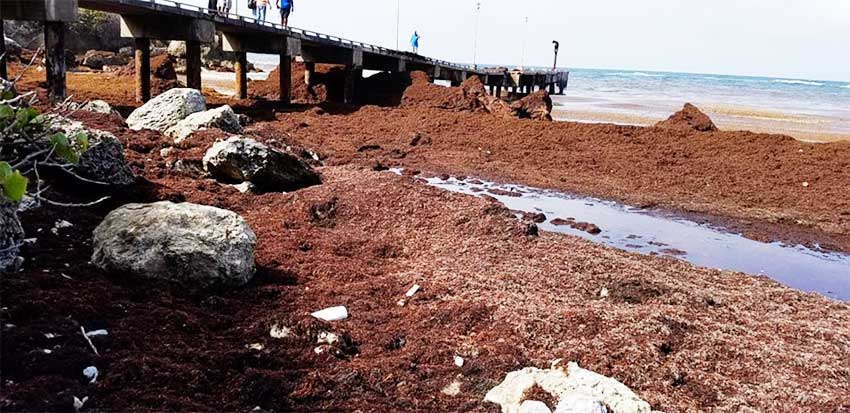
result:
[[[243,285],[257,237],[234,212],[163,201],[128,204],[94,230],[92,263],[107,271],[192,286]]]

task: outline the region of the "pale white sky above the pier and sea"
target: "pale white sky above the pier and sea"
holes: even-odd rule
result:
[[[247,0],[234,1],[249,15]],[[418,30],[420,54],[459,63],[472,63],[475,54],[479,64],[551,66],[558,40],[558,66],[567,68],[850,81],[850,0],[295,3],[294,27],[389,47],[398,15],[401,48]],[[277,9],[269,18],[280,21]]]

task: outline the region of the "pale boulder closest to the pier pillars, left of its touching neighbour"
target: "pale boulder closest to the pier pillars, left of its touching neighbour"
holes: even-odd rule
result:
[[[164,132],[187,116],[207,110],[201,92],[189,88],[170,89],[133,111],[127,118],[132,130]]]

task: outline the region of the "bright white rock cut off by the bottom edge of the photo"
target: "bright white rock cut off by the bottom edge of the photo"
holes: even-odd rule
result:
[[[490,389],[485,401],[502,407],[502,413],[518,413],[525,392],[535,385],[558,397],[555,412],[560,413],[650,413],[649,403],[641,400],[626,385],[569,363],[560,367],[527,367],[513,371]]]

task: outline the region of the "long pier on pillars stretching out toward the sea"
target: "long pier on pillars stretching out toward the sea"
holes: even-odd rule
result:
[[[221,33],[225,51],[235,52],[236,91],[238,98],[248,95],[247,53],[274,54],[281,62],[300,56],[305,63],[305,80],[310,82],[316,63],[346,67],[344,100],[351,103],[357,93],[363,70],[386,72],[424,71],[432,80],[445,80],[454,85],[469,76],[479,76],[490,87],[490,93],[501,96],[502,90],[516,95],[547,89],[550,94],[563,94],[569,79],[564,71],[485,70],[472,66],[432,59],[408,52],[343,39],[309,30],[283,27],[234,14],[223,16],[209,10],[173,0],[2,0],[0,19],[35,20],[45,24],[47,85],[51,99],[65,98],[66,25],[77,21],[78,7],[115,13],[121,16],[121,36],[134,39],[136,62],[136,99],[150,99],[151,40],[186,42],[186,83],[201,88],[201,44],[215,41]],[[2,27],[2,24],[0,24]],[[2,50],[0,50],[0,54]],[[0,62],[0,75],[5,75],[5,62]],[[280,96],[289,102],[290,65],[280,65]]]

